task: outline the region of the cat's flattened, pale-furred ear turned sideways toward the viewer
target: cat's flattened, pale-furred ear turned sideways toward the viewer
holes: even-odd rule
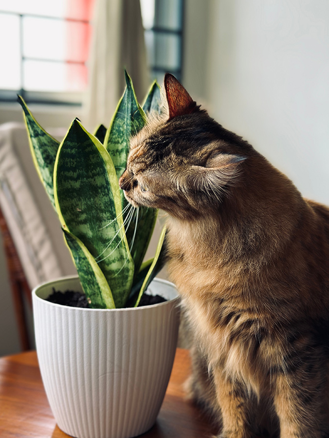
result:
[[[220,195],[226,185],[232,185],[241,174],[246,157],[220,153],[208,160],[205,166],[191,166],[189,183],[196,190]]]

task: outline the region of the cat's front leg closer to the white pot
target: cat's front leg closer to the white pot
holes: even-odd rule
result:
[[[244,383],[213,369],[217,400],[222,415],[218,438],[254,438],[256,398],[248,394]]]

